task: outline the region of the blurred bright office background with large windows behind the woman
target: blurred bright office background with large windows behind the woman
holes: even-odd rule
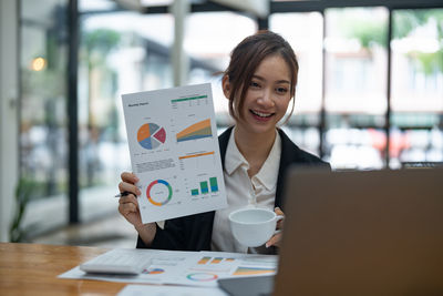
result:
[[[238,3],[240,2],[240,3]],[[282,129],[334,170],[443,162],[443,2],[0,1],[0,241],[134,247],[121,94],[210,82],[270,29],[300,64]]]

